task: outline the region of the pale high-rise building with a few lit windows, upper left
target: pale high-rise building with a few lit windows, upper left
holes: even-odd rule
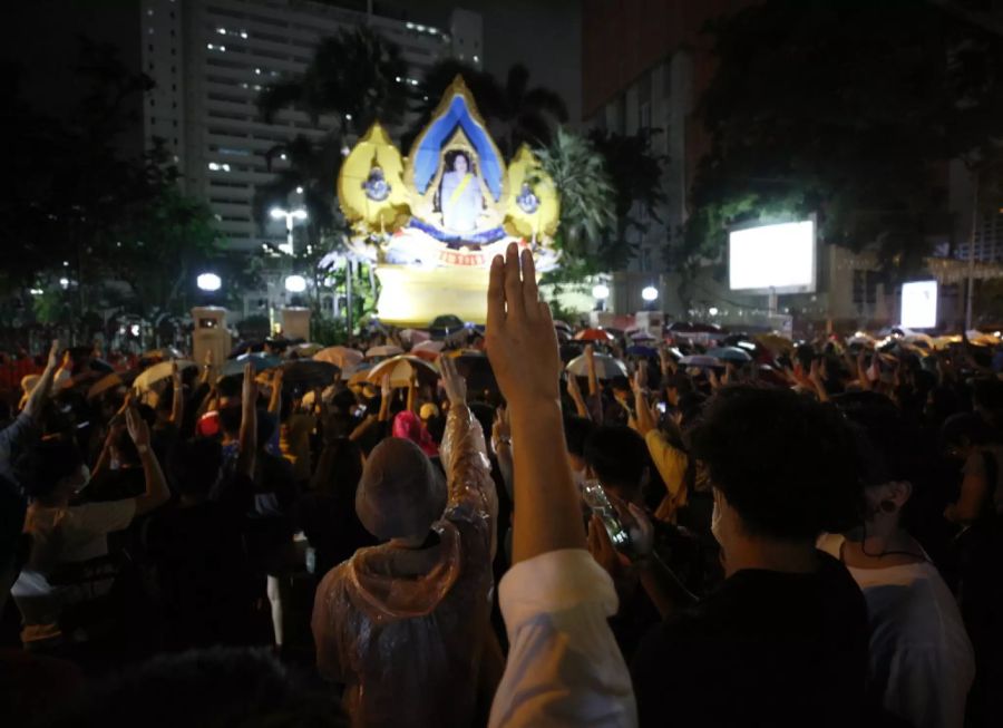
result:
[[[156,81],[144,101],[147,144],[164,139],[185,190],[210,204],[240,250],[284,236],[284,222],[261,231],[252,214],[255,186],[288,164],[279,156],[270,171],[265,153],[298,135],[319,139],[333,125],[292,109],[263,123],[263,87],[301,74],[321,39],[361,25],[401,48],[410,69],[401,84],[417,84],[454,50],[447,29],[310,0],[142,0],[140,8],[143,70]],[[480,48],[477,14],[457,17],[465,43]]]

